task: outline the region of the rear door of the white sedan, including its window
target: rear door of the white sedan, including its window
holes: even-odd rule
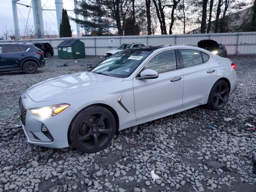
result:
[[[216,77],[212,56],[194,49],[179,49],[184,74],[183,107],[196,104],[208,96]]]

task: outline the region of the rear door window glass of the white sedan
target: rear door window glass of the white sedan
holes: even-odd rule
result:
[[[192,67],[203,63],[200,51],[194,49],[180,49],[184,67]]]

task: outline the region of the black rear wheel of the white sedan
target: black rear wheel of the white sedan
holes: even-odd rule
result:
[[[222,109],[228,101],[229,87],[224,80],[218,80],[212,87],[208,97],[208,108],[212,110]]]

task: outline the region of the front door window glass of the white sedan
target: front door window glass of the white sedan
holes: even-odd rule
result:
[[[176,55],[174,50],[163,51],[154,56],[144,67],[158,73],[169,72],[177,69]]]

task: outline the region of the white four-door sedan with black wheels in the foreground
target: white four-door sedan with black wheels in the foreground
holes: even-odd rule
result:
[[[28,88],[20,116],[29,143],[94,153],[116,131],[199,105],[222,109],[236,79],[232,61],[205,49],[144,46]]]

